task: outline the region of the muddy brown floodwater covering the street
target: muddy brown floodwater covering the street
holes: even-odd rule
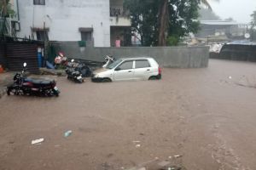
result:
[[[189,170],[254,170],[255,72],[211,59],[205,69],[164,69],[160,81],[58,77],[59,98],[4,96],[0,169],[129,169],[179,155]]]

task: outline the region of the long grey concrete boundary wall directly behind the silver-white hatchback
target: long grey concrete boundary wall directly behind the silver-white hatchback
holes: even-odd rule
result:
[[[161,66],[177,68],[207,67],[208,47],[157,47],[157,48],[79,48],[78,42],[58,42],[57,50],[68,58],[103,61],[106,54],[115,58],[150,56]]]

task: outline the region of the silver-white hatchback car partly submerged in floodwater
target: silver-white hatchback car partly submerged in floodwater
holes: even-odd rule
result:
[[[93,72],[93,82],[113,82],[127,80],[154,80],[161,78],[158,63],[149,57],[117,59],[106,68]]]

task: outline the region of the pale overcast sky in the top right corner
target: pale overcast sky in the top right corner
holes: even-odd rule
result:
[[[232,17],[239,23],[247,24],[250,22],[250,14],[256,10],[256,0],[208,0],[215,14],[222,19]]]

